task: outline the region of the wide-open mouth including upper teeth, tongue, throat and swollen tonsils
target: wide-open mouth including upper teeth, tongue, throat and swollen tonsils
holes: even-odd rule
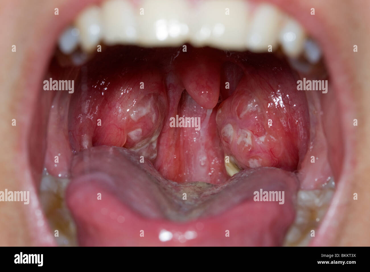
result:
[[[319,244],[344,147],[311,32],[264,3],[86,4],[40,92],[58,245]]]

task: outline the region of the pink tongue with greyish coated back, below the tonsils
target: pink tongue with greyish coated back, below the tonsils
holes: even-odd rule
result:
[[[179,184],[125,148],[101,146],[75,155],[71,174],[66,202],[83,246],[277,246],[295,216],[296,176],[277,168]],[[280,204],[260,191],[280,192]]]

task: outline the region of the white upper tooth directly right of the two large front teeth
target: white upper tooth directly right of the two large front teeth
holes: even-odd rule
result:
[[[253,52],[267,52],[276,46],[281,21],[279,10],[269,4],[261,4],[254,12],[247,36],[247,47]]]

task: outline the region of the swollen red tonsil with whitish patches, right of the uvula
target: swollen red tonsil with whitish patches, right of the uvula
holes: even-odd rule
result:
[[[293,77],[272,75],[265,81],[256,74],[243,77],[219,107],[223,149],[242,169],[268,166],[295,171],[309,136],[305,94],[296,92]]]

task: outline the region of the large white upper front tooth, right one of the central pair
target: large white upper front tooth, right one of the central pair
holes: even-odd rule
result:
[[[245,1],[204,1],[191,25],[191,43],[226,50],[245,49],[249,6]],[[228,14],[228,15],[227,15]]]

